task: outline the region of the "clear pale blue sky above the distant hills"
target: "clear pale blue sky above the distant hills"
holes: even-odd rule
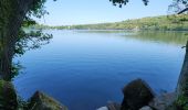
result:
[[[46,25],[73,25],[165,15],[171,1],[149,0],[144,6],[142,0],[129,0],[127,6],[118,8],[109,0],[48,0],[45,8],[50,14],[36,21]]]

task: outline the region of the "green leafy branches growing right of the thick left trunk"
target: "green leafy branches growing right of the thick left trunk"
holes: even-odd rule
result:
[[[42,18],[44,14],[49,14],[45,10],[44,3],[46,0],[35,0],[28,11],[22,26],[19,30],[19,35],[14,46],[14,56],[21,56],[27,51],[40,48],[42,45],[49,44],[52,38],[52,34],[43,33],[42,30],[24,30],[31,25],[35,25],[36,22],[31,18]],[[11,67],[11,78],[14,78],[20,69],[23,68],[20,63],[13,63]]]

